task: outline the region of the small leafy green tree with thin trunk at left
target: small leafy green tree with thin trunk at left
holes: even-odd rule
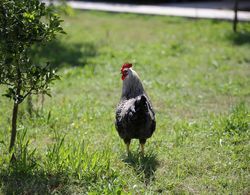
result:
[[[30,49],[64,33],[61,22],[39,0],[0,2],[0,84],[7,87],[4,96],[13,100],[10,152],[15,145],[19,104],[31,94],[49,95],[49,84],[59,78],[50,63],[34,64]]]

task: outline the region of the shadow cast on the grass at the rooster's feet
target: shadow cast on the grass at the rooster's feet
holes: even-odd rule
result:
[[[155,153],[150,152],[141,156],[141,154],[130,154],[128,157],[123,159],[123,162],[128,166],[133,167],[136,174],[141,177],[146,185],[150,184],[155,179],[155,171],[159,166],[157,156]]]

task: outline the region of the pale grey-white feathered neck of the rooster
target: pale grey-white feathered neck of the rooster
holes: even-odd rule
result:
[[[137,73],[130,69],[128,78],[123,81],[122,99],[135,98],[144,94],[142,82]]]

